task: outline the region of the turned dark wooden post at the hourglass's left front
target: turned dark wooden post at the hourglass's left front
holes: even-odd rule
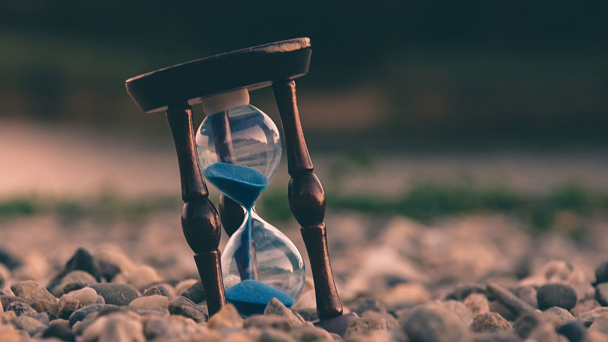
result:
[[[201,166],[192,129],[192,107],[187,103],[172,105],[167,110],[167,121],[171,128],[175,149],[178,153],[181,176],[182,231],[188,245],[195,252],[209,315],[216,313],[224,304],[224,284],[219,263],[219,239],[221,228],[219,215],[209,201],[207,185],[202,178]]]

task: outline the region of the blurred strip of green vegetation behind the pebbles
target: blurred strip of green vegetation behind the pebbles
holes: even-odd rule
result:
[[[608,212],[608,193],[577,184],[565,184],[546,195],[530,195],[504,186],[477,186],[472,182],[416,184],[397,198],[343,195],[330,192],[328,209],[358,211],[371,215],[403,215],[429,223],[446,215],[503,212],[527,223],[533,232],[558,230],[574,238],[584,234],[584,218]],[[0,218],[54,214],[65,225],[88,218],[95,222],[128,220],[141,222],[157,212],[177,212],[179,197],[147,197],[127,200],[116,194],[103,195],[86,203],[77,200],[17,198],[0,201]],[[274,224],[293,222],[284,190],[267,192],[257,209],[264,220]]]

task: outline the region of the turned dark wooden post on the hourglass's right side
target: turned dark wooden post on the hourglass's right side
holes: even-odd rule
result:
[[[342,303],[331,273],[330,257],[325,234],[325,193],[313,173],[313,162],[304,141],[300,114],[295,97],[295,82],[291,79],[275,81],[272,92],[281,122],[287,152],[289,208],[300,223],[302,239],[308,251],[319,319],[342,315]]]

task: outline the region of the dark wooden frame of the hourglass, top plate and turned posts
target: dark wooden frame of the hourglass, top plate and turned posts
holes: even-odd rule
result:
[[[300,232],[313,274],[320,319],[316,324],[344,335],[356,314],[342,315],[323,223],[325,194],[313,172],[295,97],[294,79],[308,72],[310,56],[309,38],[278,41],[148,72],[127,80],[126,89],[142,111],[166,111],[178,153],[182,200],[185,203],[182,231],[195,253],[209,315],[213,315],[226,303],[218,250],[220,222],[231,236],[243,223],[244,212],[239,204],[222,195],[218,215],[207,198],[209,193],[199,166],[190,105],[223,92],[272,86],[283,125],[291,175],[289,208],[302,227]],[[216,128],[226,130],[219,124]]]

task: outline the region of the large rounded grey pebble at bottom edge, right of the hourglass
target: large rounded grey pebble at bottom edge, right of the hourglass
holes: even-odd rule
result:
[[[410,341],[465,342],[470,339],[469,330],[460,319],[440,305],[419,305],[408,316],[402,328]]]

